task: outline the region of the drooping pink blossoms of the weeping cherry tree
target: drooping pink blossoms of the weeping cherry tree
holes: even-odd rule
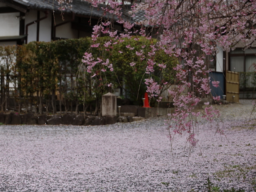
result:
[[[136,52],[140,57],[139,61],[147,62],[145,73],[148,77],[145,84],[150,97],[159,97],[160,101],[160,82],[155,82],[152,74],[155,72],[154,66],[158,66],[159,70],[165,67],[164,63],[156,63],[155,53],[163,50],[165,54],[177,59],[178,64],[170,71],[176,75],[175,82],[168,82],[176,85],[176,89],[169,89],[175,106],[175,112],[169,114],[171,119],[167,120],[169,137],[173,138],[173,134],[186,131],[190,134],[189,142],[194,146],[197,142],[194,138],[194,126],[199,117],[197,104],[201,98],[220,99],[219,96],[212,97],[210,94],[210,55],[216,51],[217,46],[229,52],[238,44],[244,48],[252,45],[256,39],[256,29],[253,28],[256,24],[256,0],[145,0],[135,1],[129,12],[121,1],[89,2],[92,6],[104,10],[102,18],[105,18],[107,13],[110,14],[108,19],[102,19],[100,24],[94,26],[92,48],[99,48],[100,44],[96,41],[101,34],[110,37],[104,44],[107,49],[99,48],[102,52],[111,52],[115,44],[123,42],[124,39],[131,39],[134,34],[138,35],[135,39],[140,39],[139,36],[148,40],[153,36],[158,39],[156,45],[151,45],[149,52],[143,51],[144,44],[141,45],[141,51]],[[106,2],[107,6],[103,6]],[[125,17],[127,12],[131,17]],[[145,19],[132,22],[131,18],[140,12],[145,13]],[[118,33],[115,30],[114,21],[123,25],[124,32]],[[141,26],[136,27],[135,24]],[[132,51],[134,47],[127,45],[127,49]],[[88,52],[83,59],[87,72],[91,72],[93,67],[102,68],[101,71],[105,72],[103,68],[106,65],[110,71],[114,70],[112,65],[107,63],[107,57],[111,57],[111,54],[102,54],[107,57],[99,59],[93,58]],[[119,53],[122,54],[121,51]],[[133,67],[136,62],[133,61],[130,65]],[[218,87],[219,81],[212,81],[212,85]],[[184,91],[185,94],[181,94]],[[207,105],[205,113],[200,113],[200,116],[212,121],[220,114]],[[171,126],[170,121],[174,121],[176,125]]]

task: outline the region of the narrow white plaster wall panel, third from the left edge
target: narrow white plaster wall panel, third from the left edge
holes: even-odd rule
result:
[[[40,12],[40,18],[44,17],[44,12]],[[52,30],[52,14],[49,13],[46,19],[40,21],[39,26],[39,41],[51,41]]]

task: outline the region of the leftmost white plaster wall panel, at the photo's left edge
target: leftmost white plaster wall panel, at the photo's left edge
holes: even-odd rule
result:
[[[19,12],[0,14],[0,36],[19,35]]]

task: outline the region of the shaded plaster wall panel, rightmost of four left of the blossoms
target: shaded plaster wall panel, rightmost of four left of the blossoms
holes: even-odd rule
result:
[[[65,21],[62,21],[60,15],[54,15],[56,24],[68,21],[72,19],[71,16],[65,16]],[[56,37],[65,39],[76,39],[78,38],[78,31],[71,29],[71,22],[56,27]]]

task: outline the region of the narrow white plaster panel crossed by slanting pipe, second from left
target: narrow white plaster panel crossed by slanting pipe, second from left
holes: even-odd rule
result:
[[[29,12],[27,12],[25,15],[25,27],[26,27],[26,24],[32,21],[35,21],[36,19],[37,19],[36,10],[30,10]],[[33,23],[30,26],[28,26],[27,43],[29,43],[30,41],[36,41],[36,23]]]

